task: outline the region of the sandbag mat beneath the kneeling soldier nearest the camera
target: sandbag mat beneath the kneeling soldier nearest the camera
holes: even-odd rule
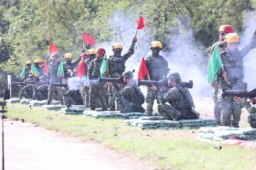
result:
[[[125,126],[138,127],[141,129],[199,129],[205,126],[214,126],[213,119],[190,119],[170,121],[164,120],[164,117],[141,117],[139,119],[124,120]]]

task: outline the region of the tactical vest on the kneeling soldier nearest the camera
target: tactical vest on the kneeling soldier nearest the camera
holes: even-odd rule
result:
[[[194,107],[193,99],[189,91],[187,90],[187,88],[183,88],[182,86],[179,86],[176,88],[182,94],[183,100],[172,100],[171,105],[174,107],[176,106],[175,107],[176,109],[193,108]]]

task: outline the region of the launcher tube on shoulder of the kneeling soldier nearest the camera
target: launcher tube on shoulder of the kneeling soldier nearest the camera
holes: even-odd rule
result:
[[[154,86],[158,86],[158,87],[168,87],[168,79],[162,79],[160,81],[149,81],[149,80],[139,80],[137,81],[137,85],[141,86],[148,86],[151,87],[151,84],[153,84]],[[179,84],[183,87],[186,87],[188,89],[191,89],[193,87],[193,81],[189,80],[189,82],[179,82]]]

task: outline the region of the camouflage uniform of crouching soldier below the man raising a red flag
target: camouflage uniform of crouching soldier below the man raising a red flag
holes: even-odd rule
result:
[[[145,112],[141,106],[144,103],[144,95],[136,84],[125,85],[120,91],[113,86],[112,91],[121,113]]]

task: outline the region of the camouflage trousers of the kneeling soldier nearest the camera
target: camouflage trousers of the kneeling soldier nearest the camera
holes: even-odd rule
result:
[[[197,119],[197,116],[189,108],[178,110],[173,106],[160,103],[157,106],[157,111],[158,115],[166,120]]]

